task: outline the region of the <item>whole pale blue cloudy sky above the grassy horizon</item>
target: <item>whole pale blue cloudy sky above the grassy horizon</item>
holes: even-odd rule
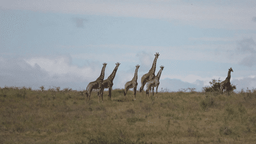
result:
[[[236,91],[253,89],[255,8],[249,0],[1,2],[0,87],[82,91],[103,63],[107,79],[119,62],[113,88],[124,88],[140,65],[139,89],[157,52],[158,91],[201,91],[229,68]]]

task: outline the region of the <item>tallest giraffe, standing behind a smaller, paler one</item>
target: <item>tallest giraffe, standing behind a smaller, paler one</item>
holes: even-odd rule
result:
[[[152,68],[149,70],[148,73],[142,76],[141,78],[142,85],[140,87],[140,92],[143,92],[144,86],[148,81],[151,81],[151,79],[155,78],[156,60],[158,59],[158,56],[159,56],[159,53],[156,53]]]

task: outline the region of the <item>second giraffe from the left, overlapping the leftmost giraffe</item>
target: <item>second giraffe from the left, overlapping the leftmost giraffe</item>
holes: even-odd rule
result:
[[[101,83],[101,98],[102,98],[102,101],[103,101],[103,91],[104,91],[104,88],[108,88],[108,97],[110,98],[111,100],[111,90],[112,90],[112,87],[113,87],[113,80],[114,80],[114,77],[116,76],[116,72],[117,72],[117,69],[119,67],[120,63],[117,62],[116,63],[116,68],[114,68],[114,71],[111,73],[110,76],[108,76],[107,79],[105,79],[102,83]]]

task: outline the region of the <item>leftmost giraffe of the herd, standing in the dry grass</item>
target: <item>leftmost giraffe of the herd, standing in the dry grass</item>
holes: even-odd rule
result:
[[[105,67],[107,66],[107,63],[103,63],[103,68],[101,69],[101,75],[96,79],[94,82],[90,82],[87,85],[87,92],[85,94],[87,95],[87,98],[91,96],[92,89],[100,89],[101,91],[101,83],[103,82],[104,75],[105,75]],[[100,97],[100,94],[98,93],[98,96]]]

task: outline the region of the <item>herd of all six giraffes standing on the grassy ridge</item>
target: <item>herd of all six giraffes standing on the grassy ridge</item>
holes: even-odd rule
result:
[[[155,54],[155,59],[153,60],[153,65],[152,68],[149,70],[148,73],[142,76],[141,78],[141,87],[140,87],[140,92],[143,92],[144,86],[146,85],[146,95],[149,96],[149,93],[154,90],[154,87],[156,87],[156,94],[158,91],[158,86],[160,84],[159,79],[162,73],[162,70],[164,69],[164,66],[160,66],[160,70],[158,74],[155,76],[155,70],[156,70],[156,60],[158,59],[159,53]],[[114,77],[116,76],[117,68],[119,67],[120,63],[116,63],[116,68],[114,68],[114,71],[111,73],[110,76],[108,76],[107,79],[104,79],[104,73],[105,73],[105,67],[107,66],[107,63],[103,63],[103,68],[101,70],[100,76],[96,79],[96,81],[90,82],[87,85],[87,92],[85,94],[87,95],[87,99],[91,96],[92,89],[99,89],[98,96],[99,98],[101,97],[101,100],[103,101],[103,91],[104,88],[108,88],[108,97],[111,99],[111,90],[113,87],[113,80]],[[126,82],[124,85],[124,96],[126,96],[127,91],[130,88],[133,88],[134,91],[134,97],[136,98],[136,90],[137,90],[137,71],[139,69],[139,65],[136,66],[135,69],[135,76],[133,77],[132,81]],[[225,79],[225,81],[220,83],[220,91],[223,92],[223,89],[229,92],[228,87],[231,86],[231,72],[233,72],[232,68],[229,69],[228,71],[228,77]],[[100,101],[99,101],[100,102]]]

